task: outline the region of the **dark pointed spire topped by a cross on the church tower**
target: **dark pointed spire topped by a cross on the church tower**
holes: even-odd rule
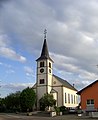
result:
[[[47,33],[47,30],[45,29],[44,30],[44,43],[42,47],[41,56],[36,61],[42,60],[42,59],[50,59],[53,62],[53,60],[49,57],[48,46],[47,46],[47,41],[46,41],[46,33]]]

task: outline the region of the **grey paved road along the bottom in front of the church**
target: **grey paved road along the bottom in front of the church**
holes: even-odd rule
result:
[[[97,118],[98,119],[98,118]],[[26,116],[17,114],[0,114],[0,120],[97,120],[77,115],[63,115],[57,117]]]

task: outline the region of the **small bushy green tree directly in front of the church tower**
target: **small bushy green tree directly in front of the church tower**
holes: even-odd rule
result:
[[[44,96],[39,100],[41,110],[45,110],[46,107],[54,106],[56,100],[53,98],[52,94],[44,94]]]

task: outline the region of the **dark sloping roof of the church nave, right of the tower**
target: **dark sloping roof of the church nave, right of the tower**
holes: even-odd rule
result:
[[[62,78],[60,78],[60,77],[58,77],[58,76],[56,76],[56,75],[53,75],[53,76],[54,76],[58,81],[60,81],[64,87],[67,87],[67,88],[69,88],[69,89],[72,89],[72,90],[77,91],[77,89],[76,89],[74,86],[72,86],[71,84],[69,84],[66,80],[64,80],[64,79],[62,79]]]

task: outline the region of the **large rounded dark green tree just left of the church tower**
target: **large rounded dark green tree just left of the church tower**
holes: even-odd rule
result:
[[[32,88],[24,89],[20,94],[20,105],[22,111],[32,111],[36,101],[36,94]]]

